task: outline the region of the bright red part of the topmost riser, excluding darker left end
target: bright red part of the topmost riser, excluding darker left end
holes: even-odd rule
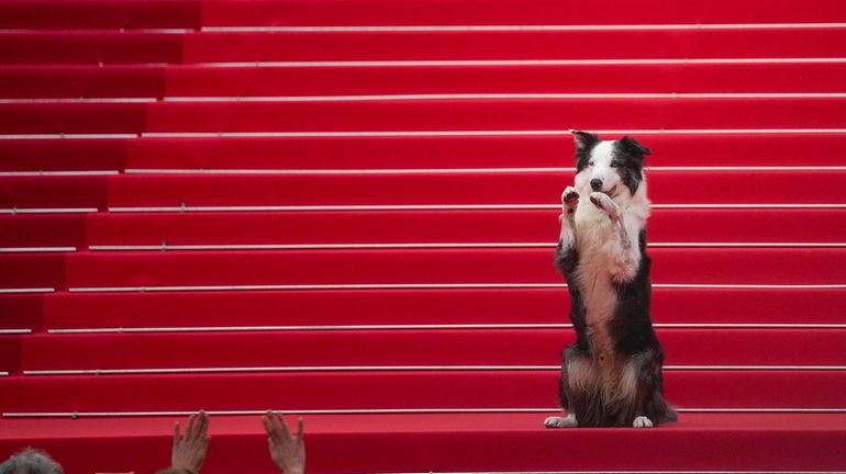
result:
[[[636,4],[603,0],[585,8],[574,0],[391,0],[341,2],[327,9],[309,0],[205,1],[203,25],[502,25],[832,22],[843,18],[836,0],[797,4],[755,0],[679,4],[648,0]]]

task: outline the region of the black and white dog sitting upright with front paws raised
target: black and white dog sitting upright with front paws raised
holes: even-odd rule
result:
[[[567,416],[544,425],[647,428],[675,421],[663,396],[664,350],[649,316],[643,174],[649,149],[630,137],[609,142],[571,132],[576,187],[561,194],[555,261],[567,279],[577,339],[561,364]]]

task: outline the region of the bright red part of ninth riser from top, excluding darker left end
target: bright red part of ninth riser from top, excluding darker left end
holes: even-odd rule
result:
[[[41,306],[30,312],[14,303],[24,297],[0,298],[3,314],[40,317]],[[565,289],[56,293],[43,304],[53,329],[564,324],[569,312]],[[844,305],[843,290],[654,289],[652,313],[659,324],[846,324],[837,311]]]

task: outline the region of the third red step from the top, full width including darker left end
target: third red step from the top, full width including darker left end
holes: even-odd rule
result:
[[[0,98],[457,93],[837,93],[846,64],[2,66]],[[637,81],[632,81],[637,77]]]

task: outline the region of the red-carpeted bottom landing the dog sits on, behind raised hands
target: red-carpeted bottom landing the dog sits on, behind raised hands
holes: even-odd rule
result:
[[[686,415],[641,433],[632,429],[548,431],[545,414],[311,415],[314,472],[446,471],[825,471],[843,465],[843,415]],[[270,472],[257,417],[218,417],[203,470]],[[172,418],[10,420],[18,439],[51,439],[68,470],[153,472],[168,462]],[[5,431],[0,445],[5,445]],[[80,458],[91,447],[102,451]],[[343,445],[338,445],[343,443]],[[626,445],[636,449],[626,450]],[[622,448],[621,448],[622,447]],[[617,455],[630,452],[632,455]],[[636,454],[635,454],[636,453]]]

